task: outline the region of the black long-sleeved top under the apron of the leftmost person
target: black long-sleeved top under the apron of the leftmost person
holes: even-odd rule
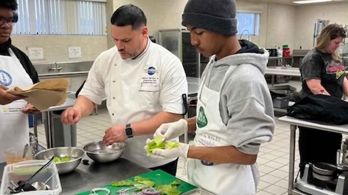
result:
[[[29,60],[29,58],[23,51],[19,50],[18,48],[16,48],[14,45],[11,44],[11,39],[8,39],[7,42],[0,44],[0,55],[10,56],[10,53],[8,52],[8,48],[11,48],[13,53],[15,53],[16,57],[21,62],[24,70],[30,76],[33,83],[34,84],[38,83],[39,82],[38,73],[36,72],[33,64],[31,63],[31,61]]]

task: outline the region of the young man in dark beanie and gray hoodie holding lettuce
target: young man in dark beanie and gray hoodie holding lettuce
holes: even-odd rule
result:
[[[255,194],[259,147],[271,141],[275,128],[264,78],[269,53],[238,40],[234,0],[189,0],[182,25],[191,33],[191,44],[212,57],[200,80],[197,116],[163,124],[154,136],[196,136],[193,143],[156,149],[151,156],[187,158],[189,183],[212,193]]]

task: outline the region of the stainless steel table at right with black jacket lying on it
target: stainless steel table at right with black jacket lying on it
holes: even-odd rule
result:
[[[289,186],[288,194],[292,195],[305,195],[299,190],[294,189],[294,172],[295,172],[295,139],[296,129],[298,126],[308,127],[313,129],[320,129],[329,132],[348,134],[348,125],[322,125],[315,122],[309,122],[305,120],[295,119],[292,117],[284,116],[278,118],[279,121],[290,124],[290,157],[289,157]]]

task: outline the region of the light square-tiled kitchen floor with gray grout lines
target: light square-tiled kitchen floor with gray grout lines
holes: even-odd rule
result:
[[[298,82],[291,82],[300,89]],[[77,124],[77,142],[83,145],[91,141],[99,141],[106,128],[110,126],[109,113],[106,109],[98,109],[97,115],[90,115]],[[46,147],[46,138],[43,125],[38,126],[38,140]],[[298,135],[298,134],[297,134]],[[273,140],[261,145],[257,163],[260,171],[260,183],[257,195],[285,195],[288,186],[290,126],[278,121]],[[298,171],[299,153],[296,138],[295,176]],[[179,160],[177,177],[187,180],[184,174],[184,161]]]

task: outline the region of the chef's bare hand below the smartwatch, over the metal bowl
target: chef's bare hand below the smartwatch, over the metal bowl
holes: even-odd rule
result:
[[[105,130],[103,141],[105,145],[111,145],[115,142],[124,142],[128,138],[125,125],[114,125]]]

